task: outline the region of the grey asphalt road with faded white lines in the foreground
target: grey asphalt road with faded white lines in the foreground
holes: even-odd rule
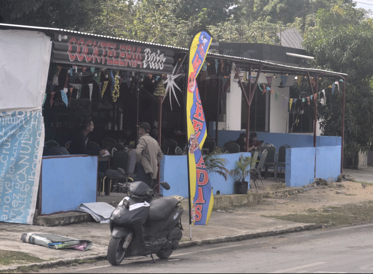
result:
[[[183,248],[169,259],[126,259],[39,273],[373,273],[373,224]],[[154,256],[155,257],[155,256]]]

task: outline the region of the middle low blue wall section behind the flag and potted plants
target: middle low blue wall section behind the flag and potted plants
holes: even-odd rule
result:
[[[229,161],[226,168],[232,170],[236,168],[235,161],[238,160],[239,156],[244,154],[250,156],[250,153],[232,153],[222,154],[222,158]],[[234,178],[228,177],[225,181],[223,176],[216,173],[209,174],[211,186],[213,187],[213,193],[220,191],[220,194],[233,194],[234,193]],[[188,197],[188,170],[186,166],[186,155],[182,156],[170,156],[164,155],[161,162],[161,181],[166,181],[170,185],[169,190],[163,189],[163,195],[180,195]]]

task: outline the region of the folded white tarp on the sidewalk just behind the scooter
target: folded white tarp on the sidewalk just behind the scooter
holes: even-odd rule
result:
[[[76,208],[76,211],[89,213],[96,222],[109,223],[110,216],[112,215],[115,207],[110,206],[108,203],[82,203]]]

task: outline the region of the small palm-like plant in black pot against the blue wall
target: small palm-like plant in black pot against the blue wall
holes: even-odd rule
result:
[[[236,169],[234,170],[235,178],[235,193],[236,194],[247,194],[247,189],[249,187],[250,181],[250,167],[251,164],[256,163],[257,160],[254,160],[254,157],[244,156],[241,154],[238,161],[236,161]],[[248,181],[246,181],[248,177]]]

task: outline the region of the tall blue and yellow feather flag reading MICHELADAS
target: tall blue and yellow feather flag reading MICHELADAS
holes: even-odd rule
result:
[[[206,59],[212,36],[209,31],[198,31],[192,38],[188,60],[188,85],[186,92],[186,125],[188,139],[188,179],[189,179],[189,221],[192,224],[207,225],[214,196],[201,153],[207,136],[206,120],[203,113],[196,77]]]

